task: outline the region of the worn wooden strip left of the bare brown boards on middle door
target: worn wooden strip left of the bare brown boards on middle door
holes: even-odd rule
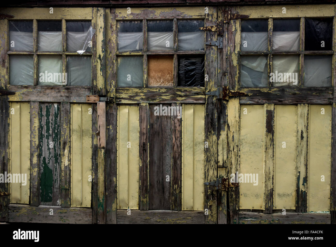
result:
[[[149,209],[149,105],[139,106],[139,209]]]

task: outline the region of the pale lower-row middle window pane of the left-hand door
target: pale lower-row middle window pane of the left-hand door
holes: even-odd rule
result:
[[[39,55],[38,56],[38,85],[61,86],[65,81],[62,74],[61,55]]]

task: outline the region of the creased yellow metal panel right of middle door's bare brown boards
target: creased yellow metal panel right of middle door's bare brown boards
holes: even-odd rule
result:
[[[204,209],[204,105],[182,105],[182,210]]]

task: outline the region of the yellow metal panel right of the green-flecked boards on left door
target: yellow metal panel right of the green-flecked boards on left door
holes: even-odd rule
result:
[[[92,117],[90,104],[71,105],[71,206],[91,207]]]

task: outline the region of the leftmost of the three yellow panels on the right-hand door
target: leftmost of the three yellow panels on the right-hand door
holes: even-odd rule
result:
[[[264,106],[242,105],[240,121],[240,172],[238,178],[236,175],[231,178],[236,178],[239,181],[240,209],[265,209],[263,182]],[[257,175],[258,179],[256,179]],[[253,182],[253,178],[255,182]]]

